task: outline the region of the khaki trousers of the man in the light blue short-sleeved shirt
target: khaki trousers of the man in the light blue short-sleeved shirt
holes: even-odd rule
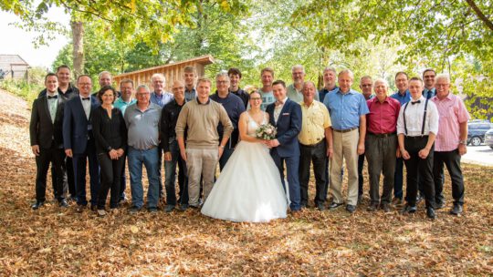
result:
[[[348,169],[348,201],[347,204],[356,206],[358,202],[358,129],[347,133],[333,132],[334,153],[330,159],[330,193],[333,201],[343,203],[342,187],[342,160],[346,160]]]

